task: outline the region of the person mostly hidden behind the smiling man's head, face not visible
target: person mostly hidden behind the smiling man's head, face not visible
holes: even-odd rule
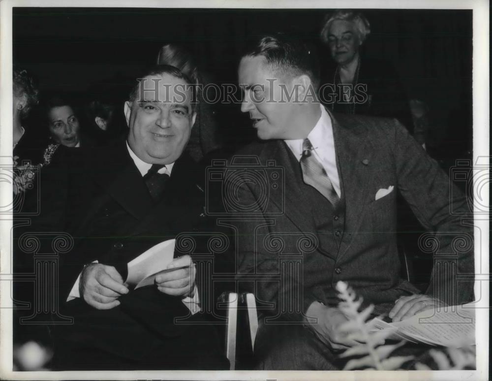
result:
[[[200,87],[204,85],[204,80],[192,54],[184,46],[165,44],[157,54],[157,64],[166,64],[178,68],[193,83],[198,85],[195,108],[197,116],[186,146],[190,156],[194,160],[200,161],[213,151],[222,148],[223,143],[214,117],[215,112],[211,105],[204,101],[199,91]]]

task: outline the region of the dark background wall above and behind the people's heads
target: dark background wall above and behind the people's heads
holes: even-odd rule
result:
[[[311,40],[327,63],[319,31],[329,11],[14,8],[13,59],[38,77],[45,94],[68,91],[84,99],[111,88],[124,98],[125,79],[154,63],[163,43],[181,42],[196,53],[211,80],[236,83],[246,39],[265,32]],[[471,148],[472,12],[363,12],[371,24],[365,53],[390,61],[409,97],[428,103],[443,152]],[[217,107],[224,133],[235,142],[247,140],[250,130],[240,106]]]

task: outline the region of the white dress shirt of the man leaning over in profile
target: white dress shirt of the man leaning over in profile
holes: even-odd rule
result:
[[[333,189],[341,198],[340,178],[337,170],[337,155],[335,153],[335,140],[333,138],[333,126],[330,115],[320,104],[321,116],[316,125],[311,129],[307,138],[311,142],[314,151],[314,157],[321,163],[325,169]],[[301,161],[303,155],[304,139],[284,140],[298,161]]]

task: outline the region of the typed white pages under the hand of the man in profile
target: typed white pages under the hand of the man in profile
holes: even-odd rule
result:
[[[387,323],[378,318],[378,329],[395,329],[389,339],[460,348],[475,344],[475,311],[470,304],[423,311],[411,318]]]

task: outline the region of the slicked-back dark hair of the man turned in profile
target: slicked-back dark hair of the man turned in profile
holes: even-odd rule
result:
[[[314,90],[317,91],[319,88],[320,74],[316,49],[302,39],[288,38],[280,33],[265,35],[246,49],[243,57],[248,56],[265,57],[266,64],[282,74],[307,74]]]

